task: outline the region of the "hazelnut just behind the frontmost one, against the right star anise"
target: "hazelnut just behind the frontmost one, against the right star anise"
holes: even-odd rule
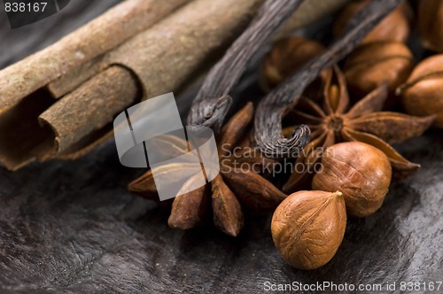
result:
[[[383,204],[392,170],[382,151],[367,143],[338,143],[324,151],[322,165],[312,188],[342,192],[349,216],[369,216]]]

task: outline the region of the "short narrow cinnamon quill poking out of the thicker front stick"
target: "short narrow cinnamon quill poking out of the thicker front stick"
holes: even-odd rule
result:
[[[108,84],[113,84],[113,91],[109,91]],[[78,134],[92,134],[104,128],[115,113],[135,102],[138,93],[136,80],[121,66],[111,66],[95,75],[40,115],[39,120],[51,126],[55,140],[51,150],[38,154],[39,159],[50,159],[69,148],[82,148]],[[88,105],[88,111],[84,111],[84,105]]]

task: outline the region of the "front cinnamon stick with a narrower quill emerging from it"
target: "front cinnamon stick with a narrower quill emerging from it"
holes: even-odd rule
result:
[[[104,64],[118,66],[118,70],[106,68],[43,112],[39,120],[46,132],[34,142],[37,148],[22,149],[19,154],[12,146],[0,148],[4,152],[0,159],[16,169],[32,159],[74,159],[89,151],[104,135],[109,137],[114,115],[136,101],[183,86],[191,74],[241,33],[261,2],[196,0],[187,4],[105,54]],[[121,103],[116,103],[115,93]],[[111,97],[116,107],[105,107],[110,103],[106,97]]]

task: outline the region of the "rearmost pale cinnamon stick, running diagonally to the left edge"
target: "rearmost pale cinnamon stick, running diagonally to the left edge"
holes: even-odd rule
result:
[[[127,0],[0,72],[0,113],[77,66],[113,49],[190,0]]]

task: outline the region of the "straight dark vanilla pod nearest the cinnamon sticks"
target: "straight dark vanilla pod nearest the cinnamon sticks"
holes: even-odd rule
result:
[[[188,116],[189,125],[206,126],[218,131],[232,103],[228,96],[248,61],[276,30],[291,17],[304,0],[268,0],[245,32],[207,75]]]

